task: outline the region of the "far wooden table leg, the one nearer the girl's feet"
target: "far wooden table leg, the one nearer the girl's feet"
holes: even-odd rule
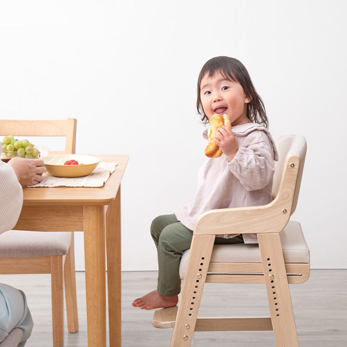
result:
[[[120,187],[106,212],[110,347],[121,346]]]

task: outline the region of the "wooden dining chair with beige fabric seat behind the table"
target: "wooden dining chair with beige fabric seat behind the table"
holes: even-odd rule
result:
[[[1,119],[0,131],[1,135],[13,136],[64,136],[64,151],[50,153],[75,153],[76,119],[74,118]],[[42,273],[51,274],[53,345],[59,347],[64,336],[63,283],[68,331],[74,333],[78,330],[73,232],[11,230],[0,235],[0,274]]]

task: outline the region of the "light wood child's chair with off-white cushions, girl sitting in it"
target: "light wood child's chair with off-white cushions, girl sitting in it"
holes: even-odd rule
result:
[[[190,346],[194,331],[250,330],[273,330],[277,347],[298,346],[288,284],[306,282],[310,263],[300,224],[289,218],[297,203],[306,141],[283,136],[277,149],[271,203],[211,210],[196,221],[191,248],[180,262],[184,280],[178,308],[156,310],[152,320],[157,328],[173,328],[171,347]],[[217,234],[227,233],[257,233],[259,243],[214,245]],[[197,318],[206,282],[265,283],[271,317]]]

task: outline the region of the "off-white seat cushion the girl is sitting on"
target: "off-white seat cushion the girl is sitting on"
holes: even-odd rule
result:
[[[298,222],[289,221],[280,232],[283,256],[286,263],[309,263],[310,250]],[[179,276],[184,278],[188,262],[189,249],[183,252],[179,264]],[[215,244],[211,263],[260,263],[260,251],[257,243]]]

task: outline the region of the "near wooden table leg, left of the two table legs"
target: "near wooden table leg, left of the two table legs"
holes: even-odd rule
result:
[[[84,260],[89,347],[106,347],[104,206],[84,206]]]

